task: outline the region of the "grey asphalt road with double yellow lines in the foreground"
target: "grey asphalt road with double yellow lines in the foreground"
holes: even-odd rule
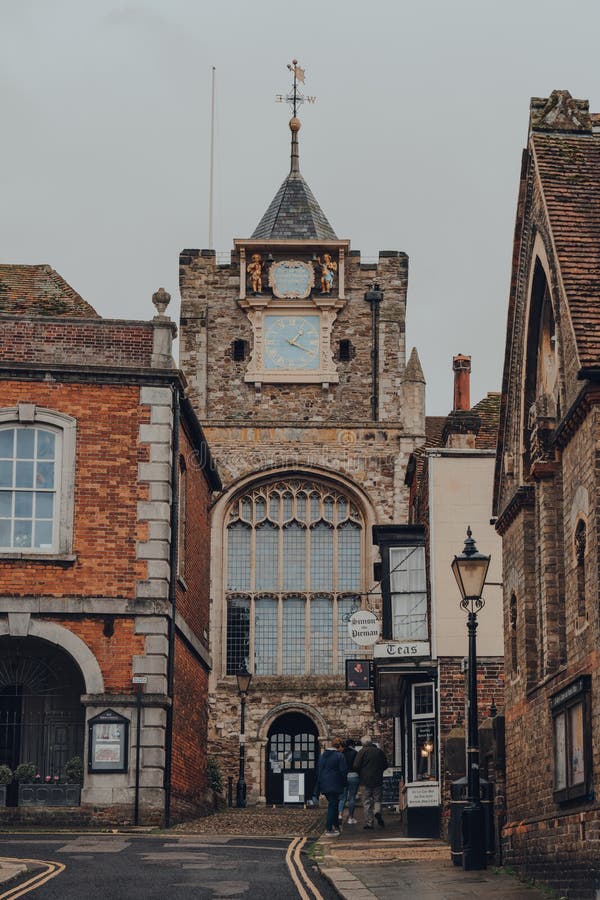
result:
[[[302,894],[286,864],[291,843],[220,835],[4,834],[0,856],[66,865],[32,900],[295,900]],[[302,865],[323,900],[338,896],[305,854]],[[314,900],[306,884],[304,891]]]

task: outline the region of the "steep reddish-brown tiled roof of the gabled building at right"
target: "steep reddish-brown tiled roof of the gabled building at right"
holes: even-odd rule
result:
[[[531,136],[582,368],[600,363],[600,135]]]

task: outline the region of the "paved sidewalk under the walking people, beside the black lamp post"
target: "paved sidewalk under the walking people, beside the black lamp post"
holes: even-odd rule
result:
[[[548,900],[549,892],[524,884],[502,868],[465,872],[450,860],[443,841],[403,836],[400,816],[386,813],[385,828],[344,825],[339,837],[319,839],[321,874],[343,900]],[[322,853],[322,856],[321,856]]]

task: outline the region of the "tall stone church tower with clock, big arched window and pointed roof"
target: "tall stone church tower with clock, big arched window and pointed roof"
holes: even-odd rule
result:
[[[181,366],[224,491],[212,510],[211,752],[236,776],[235,672],[246,705],[249,802],[310,797],[319,745],[359,738],[350,615],[379,611],[375,523],[406,521],[404,471],[424,439],[424,378],[405,354],[408,259],[361,259],[291,169],[254,233],[180,258]],[[384,739],[393,757],[391,733]],[[299,778],[296,776],[300,776]]]

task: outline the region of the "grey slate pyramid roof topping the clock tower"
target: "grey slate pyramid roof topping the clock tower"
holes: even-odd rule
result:
[[[290,172],[254,229],[253,240],[337,240],[300,172]]]

